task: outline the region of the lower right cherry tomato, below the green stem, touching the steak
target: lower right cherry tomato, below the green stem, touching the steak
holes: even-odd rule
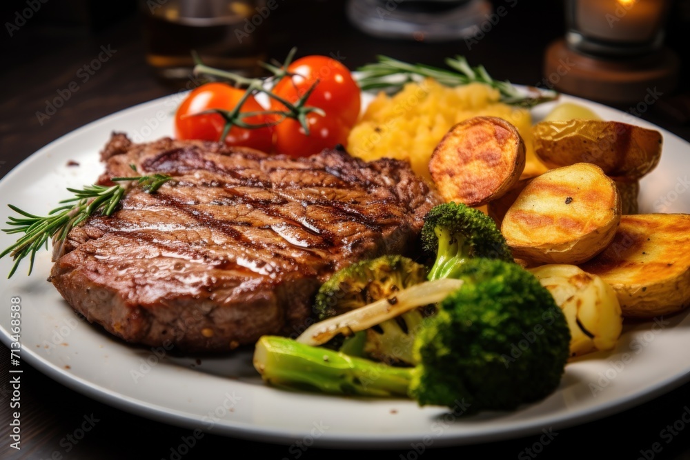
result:
[[[306,116],[309,135],[299,121],[286,119],[275,129],[275,150],[290,157],[308,157],[321,152],[325,148],[333,148],[337,144],[346,146],[350,128],[336,117],[324,117],[316,113]]]

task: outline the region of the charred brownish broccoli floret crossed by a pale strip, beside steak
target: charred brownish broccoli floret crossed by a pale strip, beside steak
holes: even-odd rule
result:
[[[395,296],[395,292],[426,280],[426,268],[400,255],[360,261],[333,274],[317,292],[314,312],[320,320]],[[433,308],[415,308],[366,331],[357,346],[342,348],[343,337],[324,344],[391,364],[413,364],[414,332]],[[361,353],[358,353],[361,351]]]

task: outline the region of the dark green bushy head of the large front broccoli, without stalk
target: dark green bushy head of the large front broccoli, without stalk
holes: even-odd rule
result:
[[[511,410],[551,394],[571,337],[551,293],[516,263],[499,260],[464,263],[458,279],[462,288],[417,334],[421,364],[411,395],[422,405],[445,406],[462,397],[476,412]]]

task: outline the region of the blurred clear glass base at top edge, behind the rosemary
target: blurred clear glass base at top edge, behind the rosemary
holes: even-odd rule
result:
[[[449,41],[473,37],[491,14],[488,0],[349,0],[348,17],[375,37]]]

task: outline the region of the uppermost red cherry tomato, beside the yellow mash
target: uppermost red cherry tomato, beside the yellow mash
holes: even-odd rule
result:
[[[342,119],[348,128],[355,126],[359,117],[359,85],[352,74],[336,59],[327,56],[307,56],[288,66],[295,74],[277,83],[273,92],[290,102],[295,102],[318,81],[306,100],[306,106],[322,108],[328,117]],[[284,110],[282,103],[271,99],[273,110]]]

